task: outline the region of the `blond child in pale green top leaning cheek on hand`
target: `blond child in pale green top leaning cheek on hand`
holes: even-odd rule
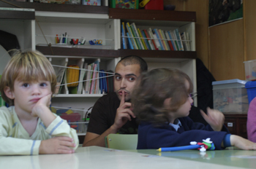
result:
[[[78,135],[50,109],[56,74],[38,51],[16,52],[1,76],[0,155],[69,154]]]

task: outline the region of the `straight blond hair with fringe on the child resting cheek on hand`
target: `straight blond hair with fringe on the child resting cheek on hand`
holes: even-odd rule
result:
[[[25,52],[21,52],[20,50],[15,51],[11,60],[4,68],[1,76],[0,92],[4,101],[10,105],[13,105],[13,101],[5,95],[4,89],[10,87],[10,90],[14,91],[15,80],[23,82],[49,81],[53,93],[56,87],[56,74],[53,66],[37,50],[27,50]]]

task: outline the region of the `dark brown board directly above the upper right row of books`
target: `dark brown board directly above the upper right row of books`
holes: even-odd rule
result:
[[[108,14],[110,19],[196,22],[195,12],[110,8]]]

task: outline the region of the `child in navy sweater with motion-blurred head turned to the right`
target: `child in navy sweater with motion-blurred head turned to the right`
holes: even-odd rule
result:
[[[228,132],[220,111],[208,109],[207,115],[201,111],[208,125],[193,122],[188,117],[192,88],[189,76],[176,69],[157,68],[141,76],[132,93],[133,111],[140,122],[138,149],[188,146],[207,138],[215,149],[256,149],[255,143]]]

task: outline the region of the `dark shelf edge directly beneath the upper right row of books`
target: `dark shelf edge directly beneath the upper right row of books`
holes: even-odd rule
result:
[[[195,51],[173,51],[173,50],[119,50],[119,56],[138,55],[142,58],[177,58],[177,59],[195,59]]]

